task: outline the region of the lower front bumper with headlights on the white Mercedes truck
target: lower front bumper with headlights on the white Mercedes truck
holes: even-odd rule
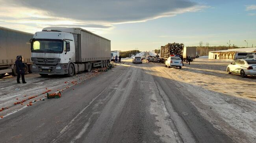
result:
[[[67,64],[58,65],[35,65],[32,64],[32,73],[35,74],[67,74]]]

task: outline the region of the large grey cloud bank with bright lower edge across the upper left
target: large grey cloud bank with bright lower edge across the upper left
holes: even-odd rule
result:
[[[189,0],[0,0],[0,3],[0,19],[9,24],[33,25],[34,29],[82,27],[92,31],[108,31],[115,24],[146,22],[208,8]]]

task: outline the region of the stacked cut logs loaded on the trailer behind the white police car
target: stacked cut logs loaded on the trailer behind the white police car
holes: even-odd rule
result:
[[[183,43],[168,43],[165,46],[161,46],[161,57],[168,58],[170,55],[182,55],[184,48]]]

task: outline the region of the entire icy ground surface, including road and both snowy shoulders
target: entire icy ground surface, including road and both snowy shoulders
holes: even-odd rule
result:
[[[168,69],[129,59],[108,72],[72,78],[29,74],[26,85],[2,78],[0,107],[9,109],[0,112],[0,140],[254,143],[256,100],[248,91],[255,91],[256,78],[227,74],[228,63],[197,59]],[[64,90],[61,98],[40,100],[49,89]],[[13,105],[35,95],[25,106]]]

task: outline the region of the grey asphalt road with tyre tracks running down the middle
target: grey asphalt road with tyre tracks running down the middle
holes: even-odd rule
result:
[[[0,119],[0,142],[230,143],[159,63],[126,62]],[[74,88],[74,90],[73,90]]]

